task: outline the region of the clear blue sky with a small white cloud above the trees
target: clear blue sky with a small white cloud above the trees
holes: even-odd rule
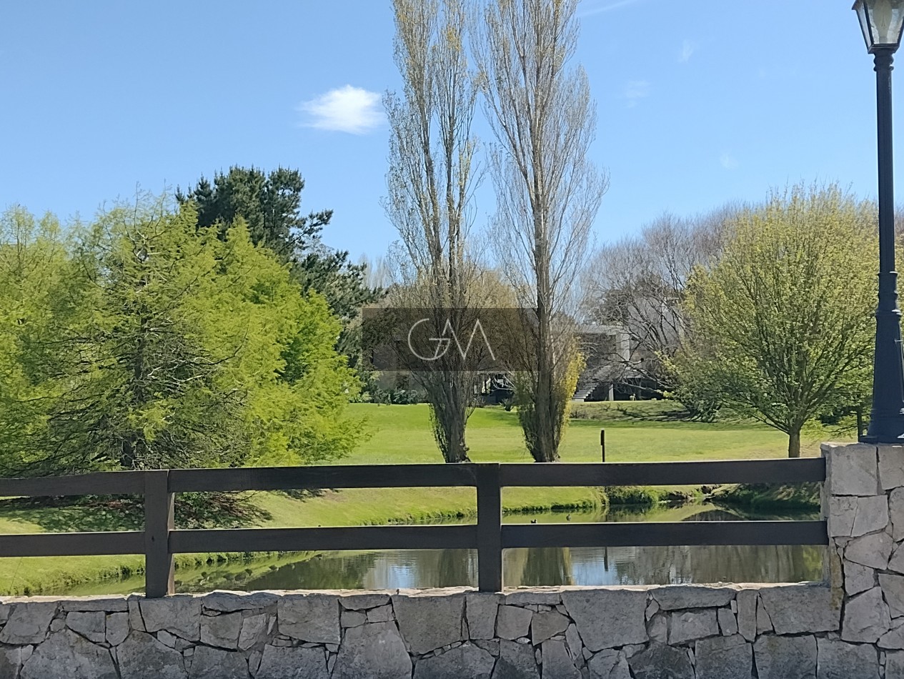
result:
[[[875,80],[850,5],[581,0],[611,181],[598,242],[789,182],[874,196]],[[392,34],[389,0],[0,3],[0,208],[88,219],[137,184],[287,165],[306,210],[334,209],[328,245],[379,256],[396,238],[380,205]],[[478,197],[479,224],[494,206]]]

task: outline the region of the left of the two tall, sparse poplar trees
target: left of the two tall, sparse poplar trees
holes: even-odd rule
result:
[[[475,299],[480,287],[472,285],[479,268],[468,254],[467,237],[479,181],[471,132],[477,88],[465,49],[466,0],[393,0],[393,7],[395,59],[404,89],[384,100],[391,126],[384,207],[410,267],[404,269],[409,279],[394,288],[391,301],[474,308],[480,306]],[[443,328],[437,332],[443,335]],[[438,361],[434,370],[415,377],[427,392],[443,457],[464,462],[476,374],[453,363]]]

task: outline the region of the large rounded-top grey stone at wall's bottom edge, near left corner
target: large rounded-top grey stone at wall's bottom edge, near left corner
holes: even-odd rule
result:
[[[37,646],[20,674],[21,679],[55,679],[63,676],[118,679],[109,649],[92,644],[69,629],[52,633]]]

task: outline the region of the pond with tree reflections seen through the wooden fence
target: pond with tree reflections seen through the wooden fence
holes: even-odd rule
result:
[[[750,514],[719,505],[692,504],[643,512],[515,514],[506,516],[505,523],[818,518],[813,512]],[[513,549],[504,552],[504,582],[506,587],[518,587],[822,580],[824,549],[815,545]],[[181,592],[476,586],[477,557],[475,550],[293,552],[180,569],[176,582],[176,590]],[[144,580],[138,577],[46,593],[126,593],[143,588]]]

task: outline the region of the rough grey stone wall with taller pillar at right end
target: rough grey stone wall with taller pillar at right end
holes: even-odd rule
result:
[[[0,679],[904,679],[904,448],[823,446],[825,581],[0,599]]]

